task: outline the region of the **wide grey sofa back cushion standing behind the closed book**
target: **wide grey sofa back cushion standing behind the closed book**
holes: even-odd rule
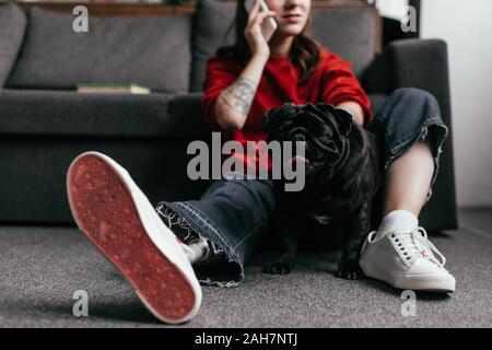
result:
[[[138,83],[164,93],[187,92],[191,16],[89,18],[89,32],[72,30],[74,16],[33,7],[10,88],[73,89],[81,82]]]

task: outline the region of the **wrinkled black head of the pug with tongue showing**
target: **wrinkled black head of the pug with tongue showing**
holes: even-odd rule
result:
[[[347,160],[353,121],[345,110],[326,103],[286,103],[265,115],[269,141],[292,141],[294,145],[295,141],[305,142],[305,156],[294,155],[291,161],[304,163],[307,182],[320,172],[325,180],[331,178]]]

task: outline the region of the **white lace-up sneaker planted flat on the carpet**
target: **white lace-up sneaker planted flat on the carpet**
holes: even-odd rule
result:
[[[444,268],[446,258],[427,240],[423,228],[408,233],[388,232],[378,240],[376,231],[371,232],[359,264],[365,276],[396,288],[437,293],[455,291],[455,278]]]

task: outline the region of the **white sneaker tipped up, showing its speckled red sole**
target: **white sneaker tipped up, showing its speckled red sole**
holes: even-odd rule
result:
[[[159,319],[178,324],[195,317],[201,288],[194,269],[125,168],[107,155],[85,152],[70,165],[67,192],[80,230]]]

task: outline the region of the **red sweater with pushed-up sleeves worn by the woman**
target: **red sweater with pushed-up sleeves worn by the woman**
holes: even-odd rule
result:
[[[219,94],[239,77],[244,67],[230,56],[215,56],[207,62],[201,109],[204,118],[216,128],[219,125],[215,101]],[[246,141],[267,140],[267,135],[262,130],[263,112],[286,102],[294,104],[325,102],[337,106],[352,101],[362,106],[364,124],[372,119],[367,95],[353,74],[350,63],[337,55],[323,49],[318,67],[307,81],[301,84],[298,77],[298,69],[289,57],[271,55],[265,66],[243,129],[234,132],[224,131],[222,140],[239,141],[245,150]]]

